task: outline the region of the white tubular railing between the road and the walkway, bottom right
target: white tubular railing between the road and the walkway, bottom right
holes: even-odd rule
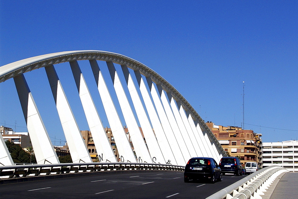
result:
[[[260,195],[265,195],[263,192],[266,192],[272,181],[283,172],[288,170],[280,166],[265,167],[221,189],[207,199],[261,198]]]

